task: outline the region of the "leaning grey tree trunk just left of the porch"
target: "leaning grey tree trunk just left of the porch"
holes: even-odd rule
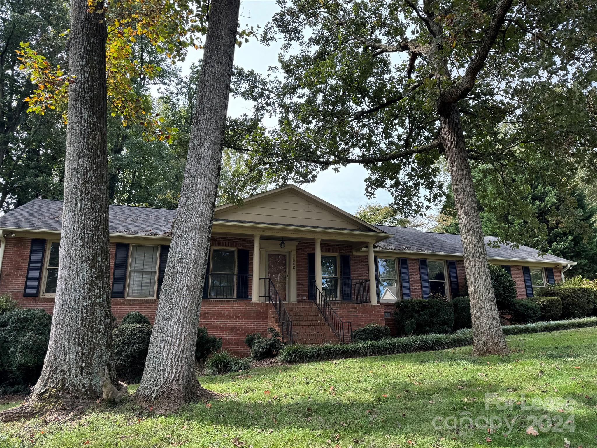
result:
[[[189,154],[170,253],[136,398],[168,413],[210,392],[195,375],[201,292],[211,240],[239,1],[211,3]]]

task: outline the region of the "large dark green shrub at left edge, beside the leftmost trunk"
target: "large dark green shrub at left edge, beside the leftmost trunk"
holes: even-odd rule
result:
[[[0,316],[2,391],[23,392],[44,366],[52,317],[43,309],[16,308]]]

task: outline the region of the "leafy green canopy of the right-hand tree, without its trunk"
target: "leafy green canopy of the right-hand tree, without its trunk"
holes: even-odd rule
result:
[[[407,216],[440,201],[447,185],[438,176],[444,150],[436,104],[448,73],[466,79],[497,3],[425,1],[429,14],[411,1],[279,4],[262,36],[264,44],[284,39],[279,67],[247,72],[240,92],[254,100],[257,116],[278,117],[275,128],[245,141],[251,162],[279,183],[364,164],[368,194],[386,189]],[[510,8],[460,103],[469,159],[497,174],[540,159],[553,177],[581,168],[587,182],[594,176],[595,19],[590,2]],[[445,76],[433,73],[433,41],[450,62]],[[500,194],[508,188],[503,182]]]

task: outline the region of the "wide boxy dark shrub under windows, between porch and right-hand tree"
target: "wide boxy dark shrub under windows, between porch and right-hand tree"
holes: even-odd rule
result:
[[[454,309],[450,302],[435,299],[408,299],[396,302],[396,323],[403,335],[450,333]]]

